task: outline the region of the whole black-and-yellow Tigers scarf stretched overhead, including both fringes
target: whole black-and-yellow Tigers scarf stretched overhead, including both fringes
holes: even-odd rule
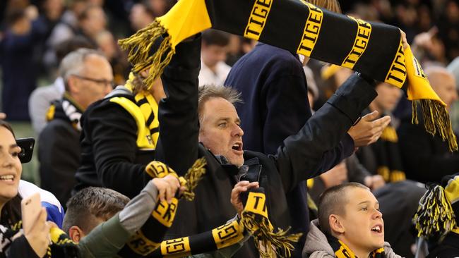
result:
[[[135,72],[150,69],[145,83],[152,85],[177,44],[210,27],[351,68],[400,88],[407,80],[412,122],[417,123],[420,106],[427,132],[439,132],[450,150],[458,149],[446,104],[431,89],[410,47],[403,49],[397,27],[343,16],[305,0],[180,0],[165,16],[119,44],[129,51]],[[150,54],[155,40],[165,34]]]

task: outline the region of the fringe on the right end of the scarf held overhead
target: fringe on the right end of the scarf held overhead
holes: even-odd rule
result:
[[[453,132],[451,120],[446,107],[440,102],[432,99],[419,99],[412,101],[412,121],[419,124],[417,106],[420,106],[424,127],[427,133],[435,135],[438,131],[443,142],[448,141],[450,152],[458,151],[458,142]]]

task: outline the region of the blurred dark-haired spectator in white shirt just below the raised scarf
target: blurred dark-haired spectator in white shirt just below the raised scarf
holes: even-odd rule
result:
[[[223,85],[231,69],[225,63],[228,44],[227,32],[213,29],[203,32],[199,85]]]

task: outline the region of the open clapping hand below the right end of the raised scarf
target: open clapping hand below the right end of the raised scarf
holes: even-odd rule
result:
[[[352,126],[347,133],[354,140],[354,147],[364,147],[376,142],[384,128],[391,123],[390,116],[378,118],[378,111],[373,111],[360,119],[357,125]]]

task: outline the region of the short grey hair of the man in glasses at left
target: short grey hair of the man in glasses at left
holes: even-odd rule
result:
[[[59,75],[61,78],[64,78],[64,82],[67,89],[67,80],[68,77],[71,75],[81,75],[81,71],[83,70],[85,60],[90,55],[97,55],[105,58],[105,56],[95,49],[76,49],[68,53],[64,59],[61,61],[61,65],[59,66]]]

